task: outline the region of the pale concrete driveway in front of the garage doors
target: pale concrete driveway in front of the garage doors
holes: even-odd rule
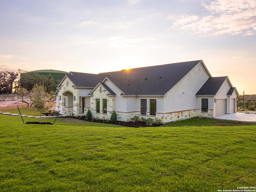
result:
[[[244,112],[236,112],[232,114],[220,115],[218,117],[215,117],[215,119],[256,123],[256,113],[250,112],[250,114],[248,114]]]

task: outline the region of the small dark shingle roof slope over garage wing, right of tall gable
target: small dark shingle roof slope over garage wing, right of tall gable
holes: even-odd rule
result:
[[[210,77],[196,95],[216,95],[226,78],[228,77]]]

